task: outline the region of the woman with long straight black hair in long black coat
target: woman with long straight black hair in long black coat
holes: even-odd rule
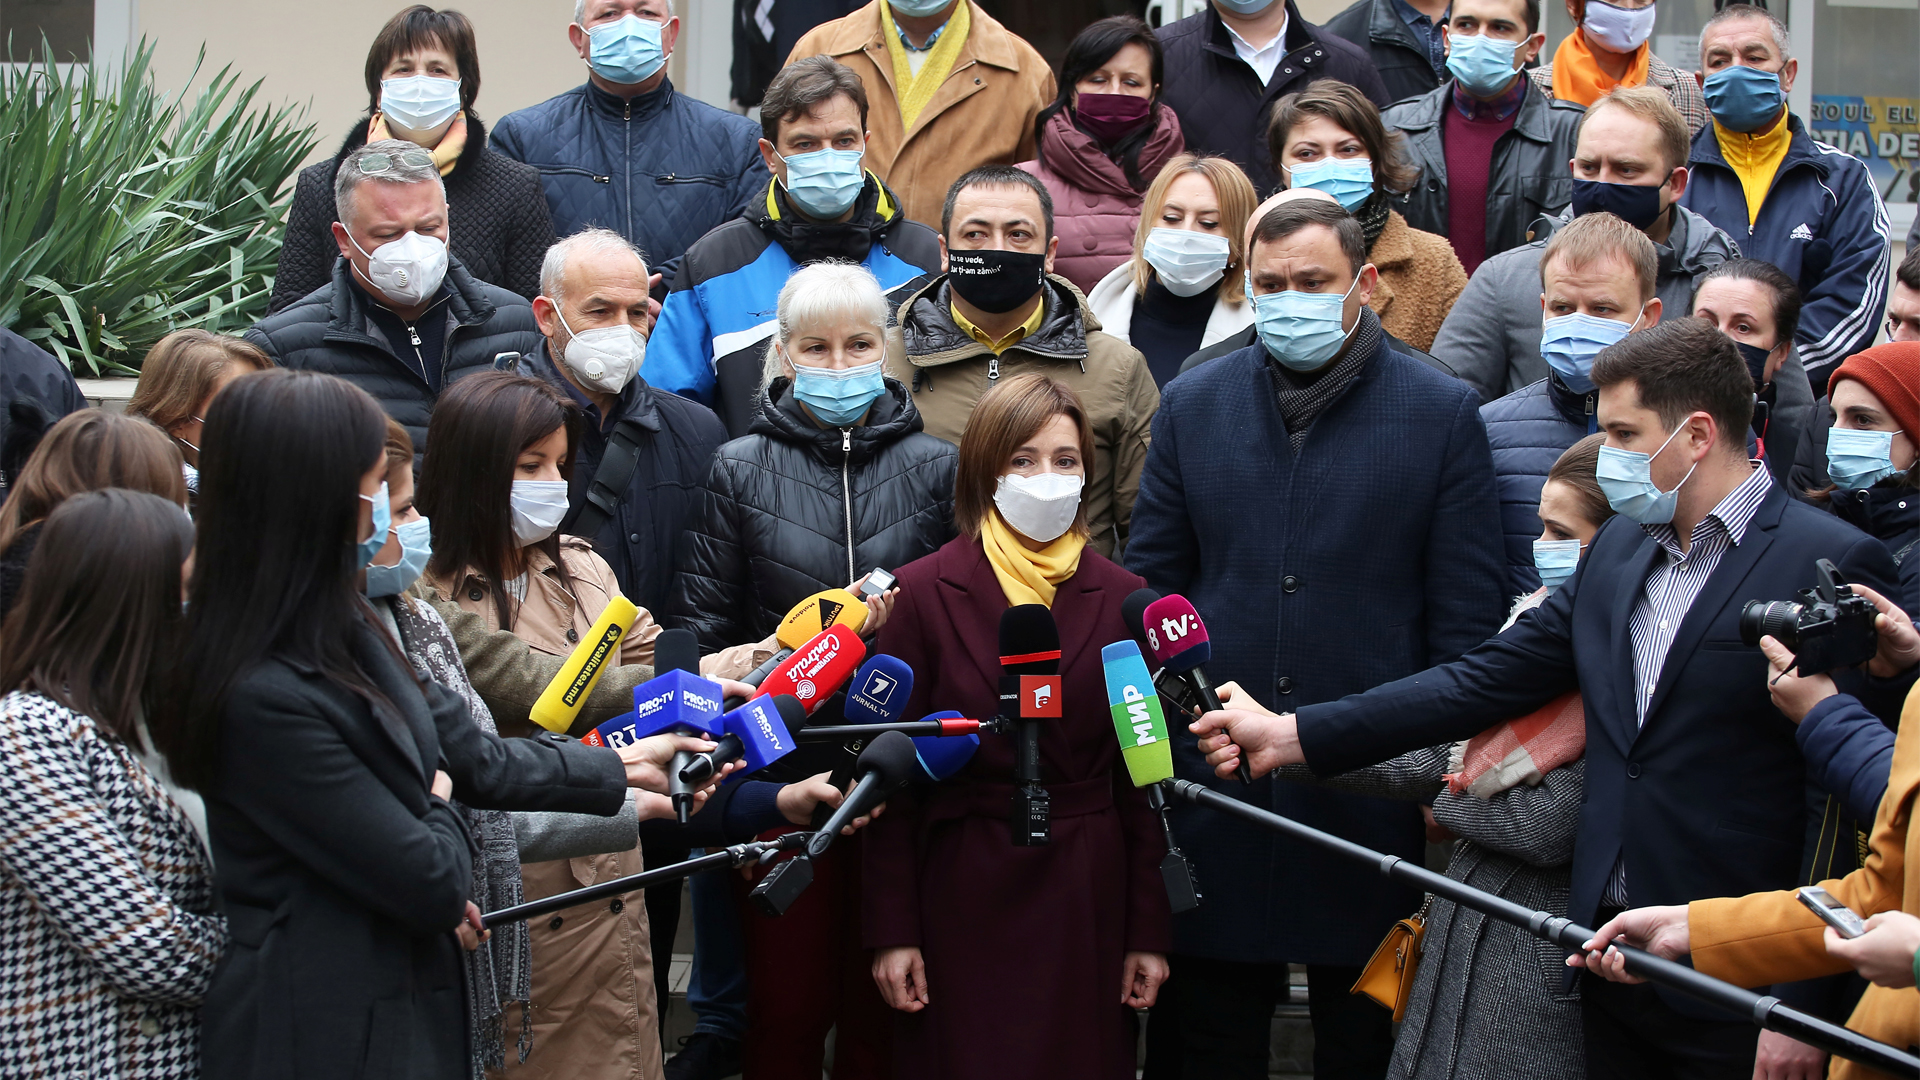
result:
[[[705,740],[611,751],[490,738],[415,676],[363,596],[386,544],[386,415],[328,375],[238,379],[207,409],[194,578],[154,742],[207,801],[232,949],[204,1070],[470,1074],[472,855],[449,803],[614,813]]]

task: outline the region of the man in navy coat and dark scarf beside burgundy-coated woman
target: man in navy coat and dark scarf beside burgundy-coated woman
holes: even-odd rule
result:
[[[1167,384],[1127,567],[1185,594],[1215,678],[1281,709],[1453,659],[1505,607],[1494,467],[1471,386],[1386,346],[1359,223],[1269,211],[1248,261],[1260,344]],[[1342,300],[1344,298],[1344,300]],[[1192,738],[1175,767],[1212,780]],[[1417,807],[1271,780],[1235,798],[1419,861]],[[1187,1076],[1265,1078],[1286,963],[1306,963],[1317,1076],[1382,1076],[1390,1015],[1348,988],[1415,892],[1210,811],[1177,819],[1206,903],[1175,920]]]

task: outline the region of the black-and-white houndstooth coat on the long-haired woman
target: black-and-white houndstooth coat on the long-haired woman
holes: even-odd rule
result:
[[[186,815],[40,694],[0,700],[0,1076],[198,1076],[227,922]]]

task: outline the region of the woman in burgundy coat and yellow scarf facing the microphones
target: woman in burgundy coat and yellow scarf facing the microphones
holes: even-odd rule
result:
[[[1062,651],[1062,719],[1041,734],[1052,844],[1014,847],[1010,736],[983,736],[962,774],[895,796],[868,826],[864,930],[900,1011],[902,1078],[1131,1078],[1133,1009],[1167,976],[1165,844],[1127,782],[1100,671],[1100,648],[1131,640],[1119,605],[1142,580],[1087,548],[1091,454],[1068,386],[1018,375],[989,390],[960,442],[962,536],[899,571],[876,646],[912,665],[912,717],[998,711],[1010,605],[1050,605]]]

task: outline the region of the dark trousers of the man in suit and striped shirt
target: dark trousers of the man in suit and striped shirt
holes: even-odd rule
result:
[[[1605,917],[1599,919],[1605,922]],[[1649,984],[1580,976],[1588,1080],[1751,1080],[1761,1028],[1678,1013]]]

